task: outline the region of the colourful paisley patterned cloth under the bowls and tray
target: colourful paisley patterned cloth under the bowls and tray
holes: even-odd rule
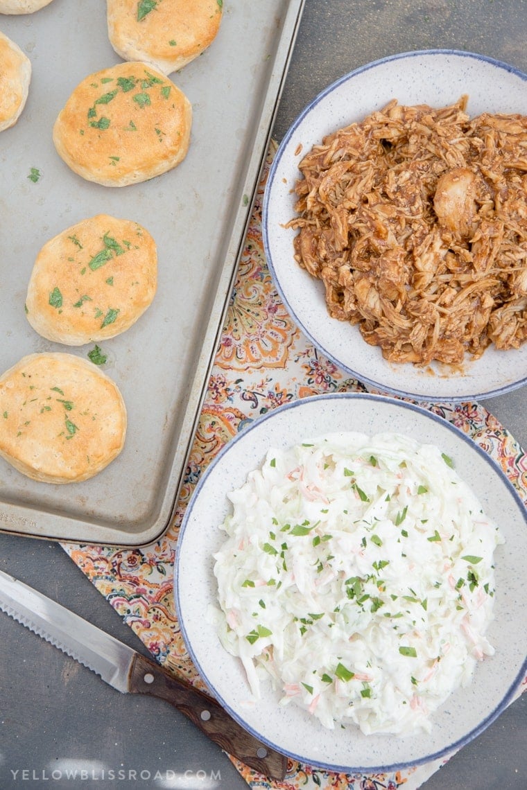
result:
[[[320,393],[375,391],[349,378],[307,342],[273,286],[262,246],[261,205],[274,150],[272,144],[173,523],[148,547],[63,544],[156,660],[199,687],[204,686],[186,652],[175,615],[172,573],[179,525],[205,467],[241,428],[280,404]],[[428,404],[428,408],[469,434],[498,461],[527,503],[527,457],[483,406]],[[518,695],[526,684],[527,679]],[[413,790],[442,765],[442,761],[435,761],[416,769],[367,776],[329,773],[289,760],[284,781],[269,781],[231,759],[251,788],[266,790]]]

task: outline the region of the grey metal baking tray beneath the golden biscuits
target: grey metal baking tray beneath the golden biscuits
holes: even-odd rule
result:
[[[28,102],[0,133],[0,370],[34,352],[86,358],[93,344],[51,343],[24,315],[28,279],[48,239],[97,213],[136,220],[156,239],[158,289],[125,333],[100,343],[128,411],[126,445],[84,483],[26,478],[0,458],[0,532],[140,546],[170,525],[304,0],[224,0],[220,32],[171,80],[194,110],[179,167],[149,182],[85,182],[55,152],[51,129],[89,73],[120,62],[104,0],[53,0],[1,16],[32,61]],[[28,179],[32,168],[40,179]]]

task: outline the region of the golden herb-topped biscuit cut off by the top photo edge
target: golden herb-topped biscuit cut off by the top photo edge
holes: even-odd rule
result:
[[[170,74],[210,46],[222,12],[222,0],[107,0],[108,37],[125,60]]]

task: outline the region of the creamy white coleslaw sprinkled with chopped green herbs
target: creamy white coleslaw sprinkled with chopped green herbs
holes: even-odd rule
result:
[[[225,649],[325,727],[431,729],[494,653],[496,525],[437,447],[326,434],[269,450],[214,557]]]

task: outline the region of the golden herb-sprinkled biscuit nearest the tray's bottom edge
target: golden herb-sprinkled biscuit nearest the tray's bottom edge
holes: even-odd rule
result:
[[[73,354],[30,354],[6,371],[0,420],[0,455],[43,483],[88,480],[119,455],[126,437],[118,387]]]

